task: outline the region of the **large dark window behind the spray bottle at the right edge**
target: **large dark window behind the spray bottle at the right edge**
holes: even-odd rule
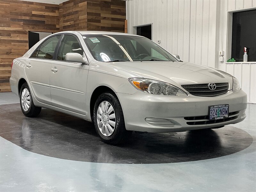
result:
[[[248,61],[256,61],[256,9],[233,13],[231,58],[243,61],[244,47]]]

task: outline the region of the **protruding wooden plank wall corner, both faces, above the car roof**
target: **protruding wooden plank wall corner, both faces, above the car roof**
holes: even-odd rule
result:
[[[60,31],[124,32],[125,1],[69,0],[60,4]]]

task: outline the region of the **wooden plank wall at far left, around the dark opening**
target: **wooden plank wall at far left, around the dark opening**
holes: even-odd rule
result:
[[[0,0],[0,92],[11,91],[12,60],[28,51],[28,31],[59,31],[59,5]]]

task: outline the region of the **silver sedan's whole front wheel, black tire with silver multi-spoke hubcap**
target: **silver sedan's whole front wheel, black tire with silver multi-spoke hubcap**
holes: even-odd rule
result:
[[[113,92],[105,92],[98,97],[94,105],[93,121],[96,132],[105,143],[122,144],[132,134],[132,131],[125,129],[123,110]]]

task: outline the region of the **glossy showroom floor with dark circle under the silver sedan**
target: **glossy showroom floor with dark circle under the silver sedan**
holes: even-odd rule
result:
[[[49,109],[22,115],[0,93],[0,191],[256,191],[256,105],[216,130],[133,133],[123,146]]]

